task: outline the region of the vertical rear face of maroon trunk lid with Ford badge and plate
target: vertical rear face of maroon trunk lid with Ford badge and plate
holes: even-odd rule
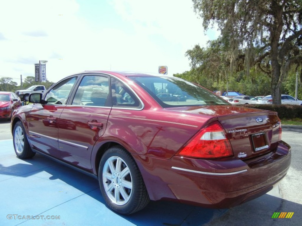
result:
[[[248,159],[274,150],[279,141],[277,114],[218,117],[239,159]]]

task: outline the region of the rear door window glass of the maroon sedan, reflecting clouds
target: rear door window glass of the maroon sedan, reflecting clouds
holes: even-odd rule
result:
[[[72,105],[106,106],[109,94],[109,79],[98,75],[86,75],[83,77]]]

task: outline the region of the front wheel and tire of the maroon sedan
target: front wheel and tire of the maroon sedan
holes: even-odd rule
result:
[[[36,152],[31,150],[21,121],[18,121],[14,126],[13,143],[16,155],[19,159],[29,159],[36,154]]]

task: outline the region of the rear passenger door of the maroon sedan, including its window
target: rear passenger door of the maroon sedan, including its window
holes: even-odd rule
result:
[[[111,111],[109,77],[104,74],[84,74],[60,115],[60,158],[90,171],[91,152],[104,134]]]

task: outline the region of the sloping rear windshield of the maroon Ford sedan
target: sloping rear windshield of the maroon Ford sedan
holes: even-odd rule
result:
[[[175,77],[129,77],[145,89],[162,107],[229,105],[201,86]]]

